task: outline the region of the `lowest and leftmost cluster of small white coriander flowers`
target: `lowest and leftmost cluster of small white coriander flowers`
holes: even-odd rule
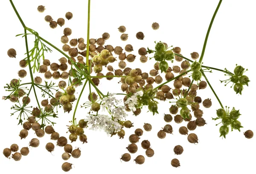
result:
[[[118,122],[113,121],[106,115],[87,116],[87,119],[84,119],[84,121],[88,121],[87,125],[90,125],[90,130],[104,130],[108,135],[118,132],[122,128]]]

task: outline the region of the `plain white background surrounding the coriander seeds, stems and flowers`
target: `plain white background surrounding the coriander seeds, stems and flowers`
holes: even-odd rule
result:
[[[24,20],[26,26],[34,29],[47,39],[52,44],[61,48],[62,44],[60,38],[63,29],[70,27],[73,30],[71,38],[83,37],[86,39],[87,31],[87,1],[82,0],[14,0],[20,16]],[[166,42],[169,46],[180,46],[182,54],[190,57],[191,52],[198,52],[201,54],[201,49],[204,43],[204,37],[212,18],[212,14],[218,4],[218,0],[92,0],[91,2],[91,30],[90,38],[99,38],[103,32],[109,32],[111,38],[106,41],[106,44],[115,46],[124,46],[132,44],[134,46],[133,54],[137,55],[133,64],[129,67],[140,67],[143,72],[153,69],[154,61],[149,61],[148,64],[142,64],[139,61],[137,50],[140,47],[154,48],[154,41]],[[44,5],[46,10],[44,13],[37,12],[37,6]],[[249,87],[244,87],[242,96],[235,94],[230,87],[224,87],[220,84],[220,79],[224,80],[225,76],[221,72],[214,71],[213,73],[206,73],[209,81],[212,83],[216,93],[221,99],[221,102],[230,107],[236,107],[241,112],[239,121],[244,128],[241,132],[233,131],[227,135],[227,139],[219,138],[219,126],[215,126],[218,121],[212,121],[211,117],[215,117],[215,110],[220,106],[215,99],[213,93],[207,87],[205,90],[199,90],[198,96],[202,99],[211,98],[212,107],[209,109],[203,108],[204,119],[207,125],[197,128],[190,133],[196,133],[200,140],[198,145],[190,144],[186,136],[178,133],[180,126],[186,126],[186,122],[180,125],[172,121],[170,124],[174,128],[173,135],[167,135],[165,139],[158,139],[157,132],[166,123],[163,120],[163,113],[169,112],[170,104],[165,102],[159,106],[159,115],[152,116],[151,113],[146,113],[145,108],[143,112],[135,117],[131,113],[129,120],[134,122],[134,127],[125,129],[125,139],[118,139],[117,136],[108,137],[104,132],[94,132],[85,130],[88,137],[88,143],[82,145],[81,142],[72,143],[73,147],[81,148],[81,157],[79,159],[70,158],[70,163],[74,164],[70,173],[175,173],[183,174],[190,173],[233,173],[239,174],[241,172],[247,174],[255,174],[255,155],[256,155],[256,137],[253,139],[246,139],[243,132],[255,129],[255,40],[256,40],[256,26],[254,9],[255,2],[253,0],[224,0],[221,4],[219,12],[215,17],[212,30],[209,35],[207,49],[204,55],[204,64],[212,67],[224,69],[225,67],[233,71],[236,64],[248,68],[246,75],[249,76],[251,82]],[[25,41],[21,37],[15,35],[23,33],[23,28],[15,15],[9,1],[1,2],[1,64],[0,86],[3,87],[12,78],[18,78],[17,71],[20,70],[18,62],[25,58]],[[63,17],[66,12],[73,12],[73,19],[67,21],[61,28],[51,29],[49,23],[44,21],[45,15],[51,15],[54,20],[58,17]],[[151,24],[158,22],[160,29],[154,31],[151,29]],[[125,33],[129,35],[128,41],[121,41],[121,35],[117,28],[120,25],[125,25],[127,30]],[[145,34],[145,39],[139,41],[135,35],[142,31]],[[33,36],[29,37],[29,46],[33,44]],[[9,58],[6,54],[9,48],[15,48],[17,51],[17,58]],[[57,62],[62,55],[54,51],[47,54],[47,58],[51,62]],[[119,62],[119,61],[118,61]],[[170,65],[171,67],[173,65]],[[117,69],[117,65],[113,65]],[[26,69],[28,72],[28,69]],[[164,78],[164,76],[163,76]],[[29,74],[23,79],[23,82],[29,82]],[[117,79],[113,81],[102,80],[99,88],[103,93],[121,92],[120,84],[117,84]],[[58,82],[58,81],[56,81]],[[79,90],[77,90],[79,91]],[[38,91],[38,96],[40,96]],[[2,96],[8,95],[3,88],[0,90]],[[88,91],[86,91],[81,99],[81,102],[87,100]],[[33,96],[31,96],[33,98]],[[40,99],[41,100],[41,99]],[[26,139],[20,140],[18,136],[22,127],[17,126],[17,115],[10,116],[10,107],[13,103],[9,101],[0,101],[1,108],[1,143],[0,150],[8,148],[12,143],[17,143],[20,148],[27,147],[30,139],[35,138],[33,131],[29,131],[29,136]],[[35,99],[32,99],[31,104],[35,107]],[[88,110],[84,108],[78,110],[77,119],[83,119]],[[70,125],[69,121],[72,119],[72,112],[70,114],[60,112],[59,118],[54,120],[58,124],[55,126],[55,131],[61,136],[68,137],[66,125]],[[152,158],[146,157],[143,165],[136,165],[133,160],[130,162],[120,162],[119,158],[126,153],[129,143],[128,136],[134,132],[136,128],[143,128],[143,123],[151,123],[153,129],[151,132],[144,132],[140,142],[143,139],[148,139],[151,142],[151,147],[155,151]],[[55,147],[55,151],[50,154],[46,151],[45,145],[50,140],[49,135],[40,138],[40,146],[38,148],[29,148],[30,153],[26,157],[22,157],[19,162],[12,159],[6,159],[0,155],[0,173],[27,173],[34,171],[37,174],[43,173],[64,173],[61,170],[61,165],[64,162],[61,159],[61,154],[64,152],[63,148]],[[182,145],[184,152],[182,155],[176,156],[173,152],[175,145]],[[132,159],[137,155],[143,154],[145,150],[140,147],[139,151],[132,154]],[[180,160],[180,168],[173,168],[170,164],[173,158]]]

